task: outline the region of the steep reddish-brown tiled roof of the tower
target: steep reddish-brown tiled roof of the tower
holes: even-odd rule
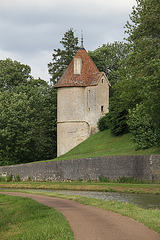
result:
[[[81,74],[74,74],[75,58],[82,59]],[[63,73],[62,77],[55,85],[55,88],[94,86],[98,84],[102,75],[105,75],[105,73],[99,72],[87,51],[84,48],[80,48]]]

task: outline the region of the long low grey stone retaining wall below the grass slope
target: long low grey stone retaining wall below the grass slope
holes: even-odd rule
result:
[[[107,156],[0,167],[0,176],[9,174],[18,174],[23,180],[31,178],[37,181],[95,180],[99,176],[110,179],[125,176],[159,181],[160,155]]]

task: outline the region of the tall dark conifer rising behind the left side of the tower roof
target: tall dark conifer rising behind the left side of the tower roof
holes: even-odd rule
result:
[[[73,56],[78,50],[78,38],[74,37],[73,29],[69,29],[60,43],[63,49],[54,49],[52,62],[48,64],[48,72],[51,75],[50,81],[55,84],[70,64]]]

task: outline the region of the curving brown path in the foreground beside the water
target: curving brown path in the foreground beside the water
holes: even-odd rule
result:
[[[160,240],[160,235],[143,224],[100,208],[54,197],[1,193],[29,197],[62,212],[70,223],[76,240]]]

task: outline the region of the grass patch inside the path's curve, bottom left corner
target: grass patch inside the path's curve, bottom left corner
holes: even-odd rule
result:
[[[74,239],[64,216],[28,198],[0,194],[0,239]]]

